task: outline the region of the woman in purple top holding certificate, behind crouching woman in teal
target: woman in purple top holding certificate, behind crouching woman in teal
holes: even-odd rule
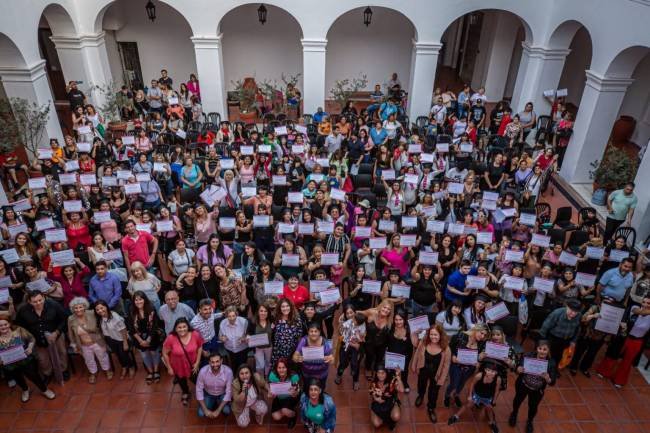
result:
[[[310,323],[307,326],[307,335],[298,342],[292,358],[293,362],[301,364],[305,382],[318,379],[321,389],[325,389],[329,365],[334,361],[334,356],[331,343],[321,335],[317,323]]]

